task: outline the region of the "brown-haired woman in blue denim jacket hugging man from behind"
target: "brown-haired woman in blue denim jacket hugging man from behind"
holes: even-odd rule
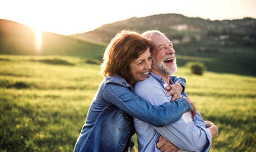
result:
[[[151,42],[133,31],[123,30],[111,40],[101,65],[104,79],[92,100],[74,151],[130,151],[134,145],[133,117],[164,126],[190,110],[191,103],[184,98],[157,107],[134,94],[136,82],[148,77],[152,50]],[[180,84],[185,86],[183,78],[174,81],[178,88],[182,88]]]

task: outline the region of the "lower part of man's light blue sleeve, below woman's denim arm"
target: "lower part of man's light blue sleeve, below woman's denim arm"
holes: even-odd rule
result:
[[[200,121],[200,120],[198,120]],[[182,150],[209,151],[211,147],[211,132],[201,125],[195,125],[197,120],[185,123],[182,119],[163,126],[154,127],[168,141]]]

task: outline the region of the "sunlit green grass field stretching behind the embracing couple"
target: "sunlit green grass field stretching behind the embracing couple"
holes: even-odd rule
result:
[[[102,80],[99,65],[86,61],[0,55],[0,151],[73,150]],[[210,151],[256,151],[256,77],[197,76],[186,67],[176,75],[186,78],[204,119],[219,127]]]

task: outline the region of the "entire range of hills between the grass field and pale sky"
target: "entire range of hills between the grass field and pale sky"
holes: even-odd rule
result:
[[[106,43],[129,28],[138,32],[156,29],[174,42],[177,64],[202,62],[207,71],[256,76],[256,19],[211,21],[179,14],[130,18],[72,36],[42,32],[41,50],[36,32],[13,21],[0,20],[0,54],[71,55],[102,60]]]

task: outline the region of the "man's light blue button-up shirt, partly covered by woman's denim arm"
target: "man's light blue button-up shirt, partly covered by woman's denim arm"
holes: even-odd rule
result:
[[[170,84],[174,84],[172,79]],[[150,73],[144,81],[139,81],[134,90],[138,96],[155,106],[170,102],[172,99],[172,96],[166,95],[164,79],[154,73]],[[187,97],[185,92],[182,96]],[[183,117],[163,127],[155,127],[136,118],[134,118],[134,125],[139,151],[161,151],[156,147],[160,135],[181,150],[209,151],[211,147],[211,132],[206,129],[205,122],[198,111],[193,120],[185,120]]]

